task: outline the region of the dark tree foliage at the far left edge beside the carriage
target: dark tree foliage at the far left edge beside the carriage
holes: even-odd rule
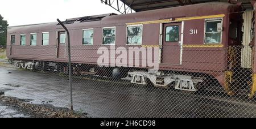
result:
[[[0,45],[6,45],[8,25],[7,21],[3,20],[3,17],[0,15]]]

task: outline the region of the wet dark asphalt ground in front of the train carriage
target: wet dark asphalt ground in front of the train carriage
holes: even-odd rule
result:
[[[55,74],[0,66],[1,91],[32,104],[70,106],[68,78]],[[76,111],[90,117],[256,117],[255,100],[149,88],[103,78],[74,78],[73,103]],[[2,108],[8,107],[0,104],[0,114]]]

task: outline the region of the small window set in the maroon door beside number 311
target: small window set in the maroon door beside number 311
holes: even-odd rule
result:
[[[166,42],[177,42],[180,37],[179,26],[166,27]]]

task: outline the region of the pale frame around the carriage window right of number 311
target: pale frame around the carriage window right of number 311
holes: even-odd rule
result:
[[[207,21],[221,21],[221,26],[223,27],[223,18],[211,18],[211,19],[205,19],[204,20],[204,45],[214,45],[214,44],[222,44],[222,35],[223,35],[223,31],[221,31],[221,40],[219,43],[206,43],[206,32],[207,32]]]

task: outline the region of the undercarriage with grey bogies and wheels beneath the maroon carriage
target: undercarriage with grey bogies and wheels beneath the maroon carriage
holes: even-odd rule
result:
[[[27,70],[44,70],[68,74],[68,64],[47,61],[18,61],[12,59],[13,65]],[[166,74],[172,73],[172,74]],[[97,65],[73,64],[72,75],[76,76],[105,76],[115,80],[129,80],[133,84],[154,85],[154,87],[170,88],[196,92],[196,85],[203,82],[203,78],[193,78],[189,75],[176,75],[174,71],[154,71],[145,69],[130,69],[126,67],[99,67]],[[125,78],[126,77],[126,78]]]

